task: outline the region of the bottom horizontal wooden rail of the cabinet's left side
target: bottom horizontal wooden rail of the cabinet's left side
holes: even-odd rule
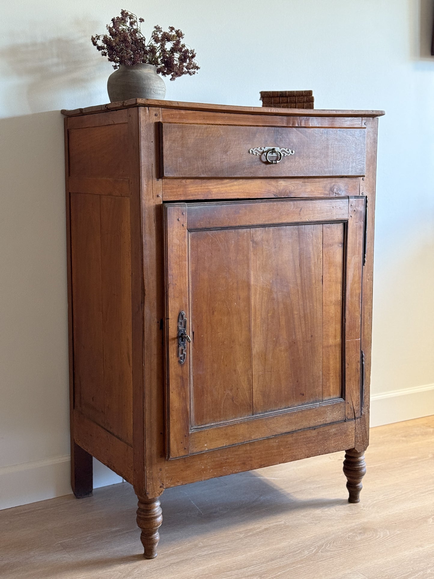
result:
[[[73,428],[76,444],[126,481],[133,481],[133,449],[130,445],[78,411],[73,413]]]

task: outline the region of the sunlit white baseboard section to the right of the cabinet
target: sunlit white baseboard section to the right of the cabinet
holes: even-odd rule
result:
[[[370,427],[434,415],[434,384],[371,395]]]

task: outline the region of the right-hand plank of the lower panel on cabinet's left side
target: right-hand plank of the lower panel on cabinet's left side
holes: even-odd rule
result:
[[[105,428],[133,444],[130,200],[101,197]]]

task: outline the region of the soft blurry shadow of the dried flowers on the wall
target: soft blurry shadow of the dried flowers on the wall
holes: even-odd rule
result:
[[[42,42],[14,43],[0,50],[2,75],[10,83],[3,108],[10,100],[28,102],[32,112],[67,108],[71,95],[86,96],[95,86],[105,87],[112,71],[109,63],[98,60],[93,53],[90,36],[77,34],[68,39],[61,36]],[[21,107],[22,111],[23,108]]]

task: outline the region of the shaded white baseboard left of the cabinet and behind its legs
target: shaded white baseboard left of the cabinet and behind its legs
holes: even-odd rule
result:
[[[71,494],[69,455],[0,468],[0,510]],[[93,486],[115,485],[122,478],[93,459]]]

